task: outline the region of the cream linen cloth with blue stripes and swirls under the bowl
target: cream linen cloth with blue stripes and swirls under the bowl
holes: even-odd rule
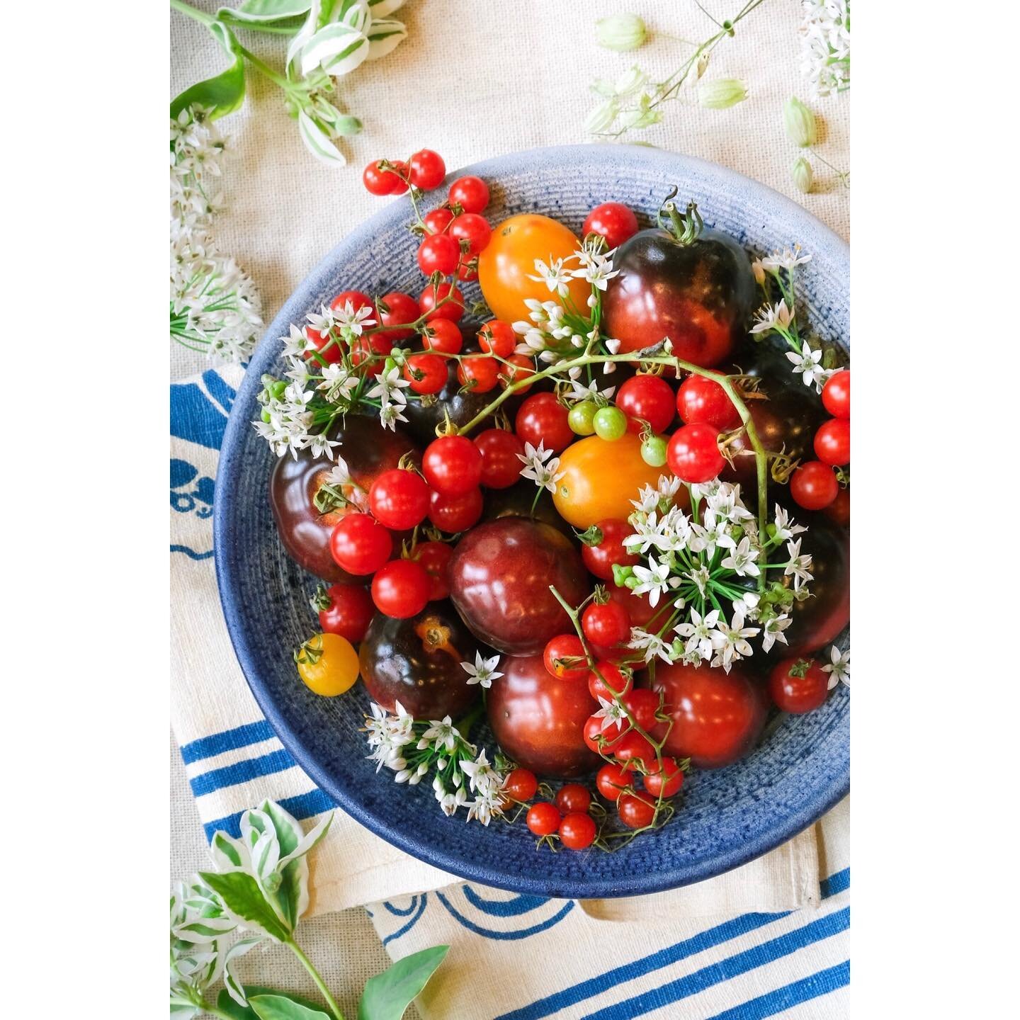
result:
[[[299,819],[334,807],[262,717],[216,593],[213,479],[242,374],[170,386],[171,723],[207,837],[237,834],[266,797]],[[363,862],[353,873],[352,861]],[[849,885],[846,802],[719,879],[594,902],[457,882],[338,812],[316,851],[311,912],[367,904],[394,959],[449,944],[449,965],[419,999],[425,1020],[828,1020],[849,1015]],[[507,941],[522,945],[508,953]]]

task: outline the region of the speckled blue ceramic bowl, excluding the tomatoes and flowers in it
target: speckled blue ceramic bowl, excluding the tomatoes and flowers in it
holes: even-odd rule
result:
[[[488,215],[546,212],[579,232],[600,202],[654,215],[670,187],[698,202],[706,223],[757,251],[799,242],[815,328],[849,345],[850,255],[844,241],[799,205],[731,170],[688,156],[618,145],[534,149],[465,167],[491,183]],[[438,204],[445,192],[434,192]],[[416,243],[408,205],[389,203],[337,246],[287,302],[252,359],[223,439],[216,479],[215,552],[227,628],[262,711],[305,771],[351,816],[400,849],[445,871],[519,892],[591,898],[635,896],[700,881],[773,849],[814,822],[850,788],[850,697],[842,684],[819,711],[786,717],[750,757],[698,772],[682,808],[652,836],[614,854],[537,853],[523,825],[446,818],[427,783],[395,786],[365,760],[358,732],[368,706],[361,684],[319,698],[294,672],[291,650],[312,630],[314,580],[284,553],[266,498],[272,455],[250,422],[263,372],[278,371],[277,338],[339,291],[417,294]],[[468,297],[472,297],[468,290]],[[845,635],[846,641],[846,635]]]

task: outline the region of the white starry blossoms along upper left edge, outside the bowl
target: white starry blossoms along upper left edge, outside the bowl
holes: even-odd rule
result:
[[[251,279],[212,239],[225,147],[205,107],[170,117],[170,339],[237,362],[251,356],[262,319]]]

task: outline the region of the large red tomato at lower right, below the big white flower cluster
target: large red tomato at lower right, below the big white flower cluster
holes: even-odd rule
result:
[[[698,768],[721,768],[755,746],[765,723],[762,692],[734,666],[729,673],[710,666],[659,663],[652,690],[663,692],[663,711],[673,720],[663,751],[690,758]],[[656,727],[661,738],[666,725]]]

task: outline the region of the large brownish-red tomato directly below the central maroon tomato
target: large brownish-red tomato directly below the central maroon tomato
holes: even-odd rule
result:
[[[588,685],[550,676],[541,655],[508,656],[489,688],[489,723],[500,747],[537,775],[568,779],[593,771],[598,755],[583,726],[598,707]]]

